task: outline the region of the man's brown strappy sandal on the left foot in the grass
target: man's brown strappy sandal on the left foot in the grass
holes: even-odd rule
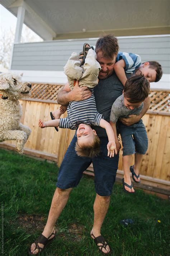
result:
[[[54,235],[54,237],[51,238],[51,239],[49,239],[52,235]],[[54,230],[53,230],[53,232],[51,233],[51,235],[50,235],[48,238],[44,237],[44,235],[41,234],[41,235],[38,237],[38,241],[35,242],[36,248],[34,249],[34,251],[35,251],[36,249],[38,249],[38,253],[33,254],[33,253],[31,252],[31,247],[30,247],[29,250],[28,250],[28,254],[29,254],[29,255],[38,255],[39,253],[41,253],[41,252],[44,250],[44,248],[46,248],[46,247],[53,241],[53,239],[55,238],[55,236],[56,236],[56,233],[54,233]],[[44,245],[44,247],[43,247],[43,248],[40,247],[40,246],[38,245],[38,243],[42,243],[42,244]],[[33,252],[34,252],[34,251],[33,251]]]

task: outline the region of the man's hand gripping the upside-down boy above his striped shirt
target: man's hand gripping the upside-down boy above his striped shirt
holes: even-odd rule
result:
[[[91,91],[86,86],[79,87],[79,81],[76,81],[70,94],[71,101],[81,101],[91,97]]]

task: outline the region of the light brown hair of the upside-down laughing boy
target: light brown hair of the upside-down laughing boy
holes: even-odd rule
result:
[[[78,156],[93,158],[100,153],[100,139],[98,135],[94,135],[93,142],[90,145],[79,144],[76,142],[75,151]]]

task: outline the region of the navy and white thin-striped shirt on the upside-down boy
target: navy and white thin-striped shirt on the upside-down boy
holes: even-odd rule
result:
[[[59,126],[61,128],[69,128],[75,130],[80,123],[86,125],[100,126],[100,120],[103,118],[102,114],[96,109],[96,103],[94,98],[93,89],[92,95],[89,99],[82,101],[72,101],[67,107],[67,117],[60,118]]]

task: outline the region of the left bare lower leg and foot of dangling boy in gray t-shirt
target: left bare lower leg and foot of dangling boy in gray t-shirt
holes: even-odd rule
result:
[[[124,171],[124,182],[127,183],[128,185],[131,185],[131,176],[130,176],[130,165],[131,165],[131,155],[128,156],[123,156],[123,171]],[[134,189],[132,187],[128,188],[127,186],[124,186],[124,188],[128,191],[128,192],[134,192]]]

